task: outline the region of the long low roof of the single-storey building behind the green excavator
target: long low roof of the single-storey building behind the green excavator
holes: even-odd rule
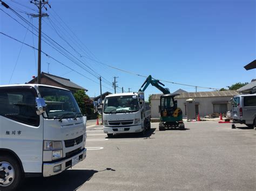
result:
[[[235,96],[239,95],[236,90],[226,90],[226,91],[199,91],[199,92],[187,92],[179,93],[179,96],[175,98],[196,98],[196,97],[225,97],[225,96]],[[152,100],[159,100],[160,96],[163,94],[153,94]]]

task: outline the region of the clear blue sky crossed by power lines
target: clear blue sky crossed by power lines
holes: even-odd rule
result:
[[[37,9],[27,0],[4,0],[13,9],[35,13]],[[18,2],[19,4],[15,3]],[[99,82],[100,74],[109,82],[118,76],[118,85],[127,91],[137,91],[144,77],[131,75],[103,66],[80,55],[82,48],[76,46],[76,37],[67,36],[62,26],[65,24],[76,34],[82,46],[86,46],[97,59],[107,65],[141,75],[152,75],[156,79],[192,84],[195,86],[225,88],[235,82],[250,82],[256,77],[254,70],[246,71],[244,66],[255,59],[255,1],[208,0],[208,1],[49,1],[52,9],[45,11],[42,31],[83,61],[93,71],[87,73],[53,48],[42,42],[42,50],[89,79]],[[23,6],[22,6],[23,5]],[[27,6],[28,8],[24,7]],[[15,17],[15,13],[1,9]],[[31,19],[38,25],[38,19]],[[57,13],[57,15],[56,15]],[[59,19],[60,16],[62,20]],[[0,11],[0,31],[23,41],[26,29]],[[19,18],[17,18],[19,19]],[[77,52],[65,43],[59,34]],[[26,24],[25,24],[26,25]],[[26,25],[28,26],[28,25]],[[59,29],[59,30],[58,30]],[[31,30],[31,27],[30,27]],[[37,47],[37,37],[28,31],[25,43]],[[23,46],[0,34],[0,84],[24,83],[37,75],[35,55],[30,47]],[[84,47],[84,49],[86,49]],[[89,50],[86,49],[87,52]],[[18,54],[21,51],[21,54]],[[18,61],[17,61],[18,58]],[[15,68],[15,63],[17,65]],[[60,65],[42,55],[42,71],[66,77],[89,89],[89,96],[99,95],[99,84]],[[85,66],[83,66],[85,67]],[[15,68],[15,70],[14,70]],[[13,73],[13,75],[12,75]],[[11,77],[12,75],[12,77]],[[10,80],[11,77],[11,80]],[[112,91],[109,82],[103,82],[103,92]],[[193,87],[165,83],[172,92],[181,88],[195,91]],[[210,89],[198,88],[198,91]],[[120,89],[117,90],[120,93]],[[149,94],[160,93],[154,87],[146,90]]]

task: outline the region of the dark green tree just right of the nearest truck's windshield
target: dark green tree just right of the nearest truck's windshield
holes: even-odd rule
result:
[[[85,94],[85,91],[80,89],[73,94],[78,106],[83,115],[87,116],[87,119],[95,119],[97,114],[93,112],[93,101],[90,100],[90,97]]]

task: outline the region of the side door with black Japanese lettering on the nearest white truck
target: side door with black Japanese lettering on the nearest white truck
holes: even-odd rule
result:
[[[43,117],[36,114],[36,96],[33,87],[0,88],[0,147],[15,152],[26,173],[42,172]]]

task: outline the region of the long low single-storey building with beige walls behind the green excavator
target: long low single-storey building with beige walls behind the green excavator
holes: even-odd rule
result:
[[[239,95],[238,91],[200,91],[200,92],[181,92],[176,96],[178,107],[183,111],[186,117],[186,100],[194,98],[196,114],[204,117],[213,113],[223,113],[231,110],[231,98]],[[160,116],[160,96],[163,94],[153,94],[151,98],[151,117],[159,118]]]

